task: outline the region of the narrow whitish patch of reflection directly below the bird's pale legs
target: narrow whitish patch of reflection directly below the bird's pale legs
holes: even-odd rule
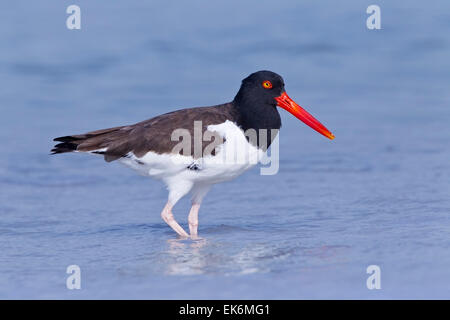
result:
[[[205,273],[206,255],[202,248],[206,245],[206,239],[196,240],[167,240],[169,261],[166,274],[169,275],[194,275]]]

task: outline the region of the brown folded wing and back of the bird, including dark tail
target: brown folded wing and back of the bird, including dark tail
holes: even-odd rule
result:
[[[186,129],[189,131],[191,146],[194,146],[195,121],[201,121],[201,132],[203,134],[207,131],[207,126],[220,124],[226,120],[234,121],[236,116],[237,113],[234,111],[231,103],[213,107],[183,109],[130,126],[55,138],[54,141],[61,143],[55,145],[52,152],[55,154],[91,151],[103,154],[108,162],[125,157],[130,152],[133,152],[138,157],[145,155],[149,151],[159,154],[173,153],[174,147],[179,143],[179,141],[172,141],[171,139],[174,130]],[[217,139],[215,140],[213,143],[220,143]],[[201,141],[201,150],[204,151],[205,147],[211,144],[211,141],[203,141],[203,139]],[[210,148],[208,147],[208,149]],[[198,155],[194,154],[194,147],[191,148],[190,155],[198,157]]]

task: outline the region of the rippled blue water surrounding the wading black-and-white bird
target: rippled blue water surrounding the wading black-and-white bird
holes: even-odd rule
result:
[[[0,41],[1,298],[450,298],[448,1],[18,0]],[[57,136],[231,101],[261,69],[336,139],[280,111],[279,173],[215,186],[201,241],[160,219],[160,182],[49,156]]]

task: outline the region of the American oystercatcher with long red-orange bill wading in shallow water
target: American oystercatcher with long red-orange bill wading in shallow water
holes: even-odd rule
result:
[[[289,98],[281,76],[258,71],[242,80],[232,102],[182,109],[133,125],[55,138],[60,143],[51,151],[103,155],[107,162],[117,160],[143,175],[162,180],[169,197],[161,217],[182,237],[189,235],[175,221],[172,208],[191,193],[188,223],[190,236],[195,238],[200,204],[211,186],[233,179],[256,164],[276,137],[281,127],[277,106],[334,139],[327,128]]]

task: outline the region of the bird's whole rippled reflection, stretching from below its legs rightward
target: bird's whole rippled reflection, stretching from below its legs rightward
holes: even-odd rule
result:
[[[345,264],[349,250],[340,245],[304,246],[292,239],[273,243],[254,238],[239,245],[215,238],[171,239],[162,267],[167,275],[304,273]]]

